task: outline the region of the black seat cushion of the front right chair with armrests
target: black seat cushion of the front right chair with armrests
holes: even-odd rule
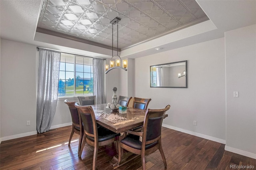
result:
[[[140,149],[141,150],[141,144],[140,142],[140,136],[136,136],[134,134],[128,134],[126,138],[121,140],[123,144],[126,144],[127,146],[130,146],[135,149]],[[152,148],[153,146],[156,146],[157,141],[153,142],[151,144],[146,144],[146,149]]]

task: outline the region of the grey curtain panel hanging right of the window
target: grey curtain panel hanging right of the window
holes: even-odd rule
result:
[[[93,58],[93,95],[96,96],[96,104],[106,103],[104,89],[105,61]]]

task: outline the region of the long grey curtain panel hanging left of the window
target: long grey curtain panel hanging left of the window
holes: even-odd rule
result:
[[[39,48],[36,129],[50,130],[58,99],[60,52]]]

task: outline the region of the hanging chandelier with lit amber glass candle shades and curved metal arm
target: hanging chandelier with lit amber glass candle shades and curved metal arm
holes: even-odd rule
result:
[[[127,59],[124,59],[122,62],[121,57],[118,55],[118,22],[121,20],[121,18],[116,17],[114,20],[112,20],[110,22],[110,24],[112,24],[112,58],[110,59],[110,65],[106,64],[105,65],[105,74],[108,73],[110,70],[112,69],[116,69],[116,68],[120,68],[120,69],[124,69],[125,71],[127,71],[127,65],[128,65],[128,61]],[[117,24],[117,54],[113,55],[113,26]],[[113,59],[113,57],[118,57],[116,59],[116,66],[115,66],[115,60]],[[121,63],[122,63],[122,67],[121,67]]]

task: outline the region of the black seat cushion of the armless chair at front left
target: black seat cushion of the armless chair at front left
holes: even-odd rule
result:
[[[106,141],[115,138],[116,136],[120,136],[120,133],[115,133],[107,128],[98,126],[98,142]],[[87,136],[87,138],[94,141],[94,137]]]

